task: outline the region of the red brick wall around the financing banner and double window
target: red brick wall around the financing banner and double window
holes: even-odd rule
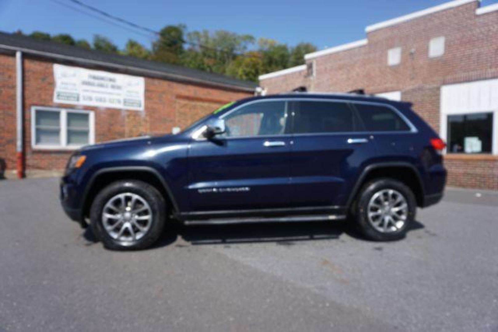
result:
[[[53,62],[25,58],[24,66],[24,147],[26,170],[46,171],[64,168],[71,151],[47,151],[31,148],[31,107],[65,107],[95,113],[95,141],[133,137],[140,134],[170,133],[172,127],[185,127],[193,117],[188,111],[179,112],[177,99],[190,98],[204,103],[195,112],[214,111],[218,106],[248,97],[250,94],[228,89],[175,83],[145,78],[145,111],[80,107],[53,102]],[[209,107],[206,107],[209,106]],[[187,118],[187,120],[185,120]],[[15,169],[15,58],[0,55],[0,159],[7,170]]]

